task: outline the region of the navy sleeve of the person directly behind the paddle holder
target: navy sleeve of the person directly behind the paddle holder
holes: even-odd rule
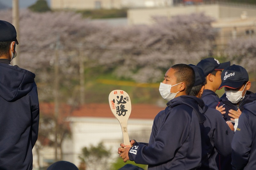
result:
[[[214,109],[212,113],[213,127],[213,142],[217,152],[223,156],[231,155],[231,142],[234,137],[234,132],[229,128],[221,113]]]

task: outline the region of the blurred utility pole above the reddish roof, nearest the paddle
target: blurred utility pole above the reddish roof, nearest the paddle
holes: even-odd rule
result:
[[[81,45],[82,46],[82,45]],[[84,104],[84,55],[79,46],[79,79],[80,79],[80,104]]]

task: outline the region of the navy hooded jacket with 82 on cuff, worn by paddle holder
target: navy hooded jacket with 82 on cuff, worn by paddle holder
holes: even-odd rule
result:
[[[135,143],[129,159],[147,164],[148,169],[195,169],[201,165],[201,134],[199,122],[205,117],[197,115],[193,107],[197,102],[192,96],[179,96],[167,103],[165,114],[156,126],[157,132],[149,144]],[[152,134],[151,134],[152,136]]]

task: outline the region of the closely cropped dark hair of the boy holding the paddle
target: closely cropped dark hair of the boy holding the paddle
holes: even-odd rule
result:
[[[176,83],[185,83],[185,93],[188,95],[195,83],[195,72],[193,68],[187,64],[175,64],[171,68],[175,70],[174,76],[176,77]]]

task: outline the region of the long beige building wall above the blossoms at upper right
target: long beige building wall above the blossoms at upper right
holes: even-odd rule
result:
[[[204,12],[216,20],[224,18],[240,18],[241,15],[256,17],[256,6],[232,6],[225,4],[201,4],[188,6],[172,6],[166,8],[130,9],[127,13],[128,24],[152,24],[152,16],[172,17],[175,15],[189,15]]]

